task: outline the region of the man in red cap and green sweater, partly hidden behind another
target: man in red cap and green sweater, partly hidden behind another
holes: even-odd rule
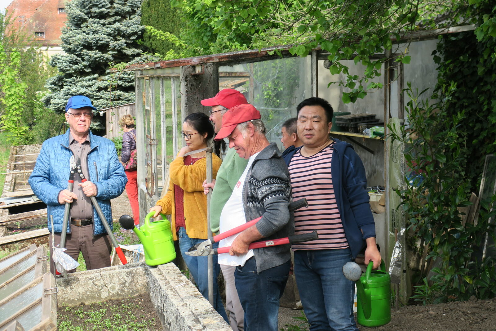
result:
[[[245,96],[232,88],[225,88],[213,98],[201,100],[203,106],[210,106],[210,121],[214,124],[214,131],[219,132],[222,127],[222,116],[236,105],[246,104]],[[248,161],[239,157],[234,149],[229,149],[222,165],[217,172],[217,179],[214,181],[215,190],[212,191],[210,199],[210,228],[213,233],[219,232],[219,219],[224,205],[233,193],[234,186],[243,174]],[[206,181],[205,181],[206,182]],[[209,188],[214,187],[214,183],[204,183],[205,194]],[[224,280],[226,281],[226,310],[229,314],[231,328],[233,331],[243,331],[245,312],[241,306],[236,285],[234,283],[235,266],[220,265]]]

